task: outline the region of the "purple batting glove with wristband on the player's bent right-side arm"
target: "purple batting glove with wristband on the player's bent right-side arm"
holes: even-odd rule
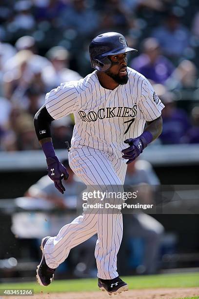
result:
[[[153,135],[149,131],[143,132],[137,138],[129,138],[124,141],[130,147],[122,149],[122,158],[127,159],[126,164],[133,162],[142,153],[143,149],[153,140]]]

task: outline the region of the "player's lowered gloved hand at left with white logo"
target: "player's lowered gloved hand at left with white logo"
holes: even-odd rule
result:
[[[67,180],[69,176],[66,168],[56,156],[47,158],[46,163],[48,165],[48,176],[54,181],[55,187],[63,194],[65,188],[63,187],[61,180]]]

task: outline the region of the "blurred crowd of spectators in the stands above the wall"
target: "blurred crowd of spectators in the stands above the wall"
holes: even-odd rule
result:
[[[197,0],[1,0],[0,150],[39,149],[33,117],[45,93],[92,72],[88,45],[118,31],[138,54],[129,66],[165,105],[161,144],[199,143]],[[73,118],[53,123],[56,149]]]

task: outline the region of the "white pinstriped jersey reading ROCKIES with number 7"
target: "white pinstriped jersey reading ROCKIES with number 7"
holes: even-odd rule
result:
[[[130,67],[127,71],[127,84],[114,90],[103,88],[94,71],[46,94],[46,108],[55,120],[74,113],[73,148],[121,151],[127,147],[124,140],[139,136],[146,121],[161,115],[164,105],[149,81]]]

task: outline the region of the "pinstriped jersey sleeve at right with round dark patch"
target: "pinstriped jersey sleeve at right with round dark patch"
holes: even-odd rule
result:
[[[141,97],[138,107],[143,118],[148,122],[157,119],[161,115],[161,110],[164,108],[164,105],[146,78],[144,78],[141,83]]]

